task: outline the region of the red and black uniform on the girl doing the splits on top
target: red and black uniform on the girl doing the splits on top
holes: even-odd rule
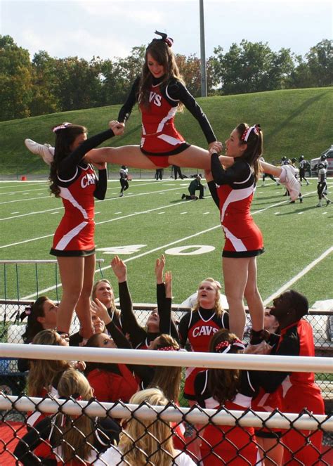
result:
[[[157,167],[169,167],[167,157],[181,153],[189,147],[174,126],[178,103],[183,103],[197,119],[208,143],[216,141],[216,136],[202,108],[188,89],[176,78],[169,79],[167,83],[162,81],[163,78],[152,77],[149,107],[140,105],[142,114],[140,148]],[[131,110],[137,101],[139,86],[140,77],[136,78],[129,97],[119,111],[119,122],[126,122],[131,115]]]

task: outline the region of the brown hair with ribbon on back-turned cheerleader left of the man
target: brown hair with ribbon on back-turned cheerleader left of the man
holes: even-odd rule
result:
[[[237,335],[230,333],[225,328],[214,333],[209,342],[209,351],[218,353],[216,346],[221,342],[233,344],[238,340]],[[239,353],[240,349],[231,348],[230,353]],[[209,369],[208,388],[211,396],[221,405],[227,400],[233,401],[240,387],[240,370],[238,369]]]

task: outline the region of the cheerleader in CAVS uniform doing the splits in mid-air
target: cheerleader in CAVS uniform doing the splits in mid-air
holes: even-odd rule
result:
[[[197,119],[209,146],[216,143],[216,136],[202,108],[183,84],[171,50],[173,39],[162,32],[155,34],[161,38],[153,39],[146,48],[141,76],[133,83],[129,97],[118,115],[119,122],[125,125],[133,106],[138,102],[142,117],[140,145],[94,150],[89,154],[89,160],[143,169],[164,168],[174,164],[208,169],[207,150],[188,144],[176,130],[174,117],[177,110],[185,107]]]

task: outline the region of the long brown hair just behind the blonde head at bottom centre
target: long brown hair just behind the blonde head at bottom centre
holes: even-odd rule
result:
[[[176,339],[171,337],[171,335],[166,335],[166,333],[159,335],[159,337],[155,339],[155,342],[155,349],[157,349],[157,351],[166,347],[172,347],[175,351],[180,349]],[[163,391],[167,399],[170,401],[178,401],[181,389],[181,371],[181,367],[157,365],[149,387],[158,387]]]

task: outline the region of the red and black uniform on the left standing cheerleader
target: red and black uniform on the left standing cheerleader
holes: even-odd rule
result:
[[[92,136],[61,160],[57,185],[65,214],[53,237],[50,254],[53,256],[89,256],[95,253],[94,200],[103,200],[107,190],[107,171],[98,170],[98,179],[91,164],[84,163],[84,155],[108,138],[115,136],[111,129]]]

